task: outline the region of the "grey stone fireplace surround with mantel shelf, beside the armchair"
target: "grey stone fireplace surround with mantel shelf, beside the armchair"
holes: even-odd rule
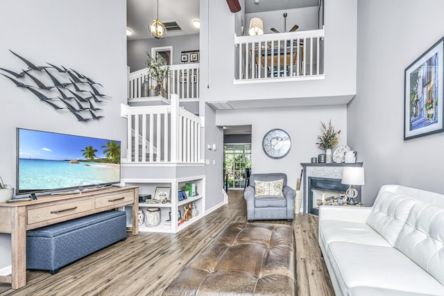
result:
[[[343,167],[363,165],[363,162],[355,162],[352,164],[301,163],[303,172],[302,209],[304,213],[318,214],[318,211],[311,207],[311,189],[325,189],[325,191],[341,191],[341,189],[347,189],[348,185],[341,184]],[[361,186],[355,186],[355,188],[359,193],[358,198],[355,200],[361,201]]]

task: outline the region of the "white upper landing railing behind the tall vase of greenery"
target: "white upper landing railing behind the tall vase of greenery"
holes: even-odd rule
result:
[[[173,64],[170,66],[169,76],[164,80],[164,87],[168,94],[178,94],[182,99],[199,98],[200,65]],[[154,87],[157,81],[150,79],[148,68],[128,73],[128,98],[142,98],[142,83],[147,80]]]

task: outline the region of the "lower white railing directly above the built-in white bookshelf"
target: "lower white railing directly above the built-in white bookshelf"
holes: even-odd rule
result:
[[[171,105],[122,105],[128,119],[127,163],[198,163],[203,120],[179,107],[178,95]]]

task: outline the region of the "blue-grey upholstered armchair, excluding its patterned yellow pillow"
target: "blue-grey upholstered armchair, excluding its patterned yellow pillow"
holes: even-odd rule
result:
[[[256,196],[255,181],[271,182],[283,180],[282,196],[260,195]],[[247,201],[247,220],[280,220],[293,221],[294,198],[296,191],[287,185],[287,175],[284,173],[263,173],[250,175],[250,185],[244,191]]]

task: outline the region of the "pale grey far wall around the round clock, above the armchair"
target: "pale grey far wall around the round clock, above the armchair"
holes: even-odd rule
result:
[[[317,148],[316,136],[321,134],[321,121],[328,123],[330,119],[334,128],[341,130],[335,148],[347,144],[345,105],[223,111],[217,112],[216,125],[252,125],[252,173],[287,173],[288,184],[294,189],[302,170],[300,163],[325,153]],[[262,149],[264,135],[273,128],[285,130],[291,138],[289,154],[281,159],[266,156]]]

